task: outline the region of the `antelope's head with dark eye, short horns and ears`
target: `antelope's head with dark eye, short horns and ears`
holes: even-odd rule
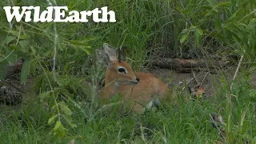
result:
[[[107,43],[103,44],[104,50],[96,50],[98,61],[107,67],[106,78],[113,79],[116,84],[137,85],[139,78],[134,74],[131,66],[121,59],[120,48],[118,48],[118,58],[116,57],[115,50]],[[122,49],[123,51],[123,49]]]

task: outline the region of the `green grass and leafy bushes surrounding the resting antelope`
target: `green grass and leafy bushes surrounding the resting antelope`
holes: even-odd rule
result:
[[[21,105],[1,108],[1,143],[256,143],[256,90],[250,85],[256,68],[254,0],[51,2],[79,11],[108,6],[117,22],[9,23],[3,6],[46,8],[49,2],[0,2],[0,77],[5,78],[6,64],[25,58],[21,82],[32,83]],[[163,53],[170,58],[214,55],[233,60],[234,66],[243,58],[242,67],[231,90],[227,74],[221,75],[216,98],[193,100],[178,87],[177,106],[165,102],[161,110],[123,114],[116,100],[106,106],[110,110],[97,100],[105,68],[94,50],[103,42],[126,46],[136,71],[146,70],[148,60]],[[224,134],[212,126],[210,113],[222,115]]]

